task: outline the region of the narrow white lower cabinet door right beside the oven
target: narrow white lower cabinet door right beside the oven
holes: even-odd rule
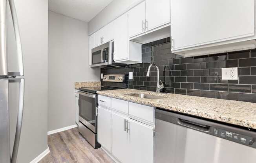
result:
[[[111,111],[98,106],[98,141],[108,151],[111,149]]]

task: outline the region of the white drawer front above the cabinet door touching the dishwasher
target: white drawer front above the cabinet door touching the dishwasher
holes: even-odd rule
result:
[[[129,102],[129,116],[154,124],[154,107]]]

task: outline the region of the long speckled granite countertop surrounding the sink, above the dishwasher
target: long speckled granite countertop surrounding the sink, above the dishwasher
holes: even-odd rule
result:
[[[133,101],[136,103],[256,129],[256,103],[186,96],[181,94],[159,94],[156,92],[135,89],[117,89],[110,91],[98,91],[97,93],[103,96]],[[152,100],[127,95],[134,93],[152,94],[163,96],[165,98]]]

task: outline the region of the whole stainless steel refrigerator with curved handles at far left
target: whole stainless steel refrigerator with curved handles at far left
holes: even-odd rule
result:
[[[12,28],[8,27],[8,22],[11,22]],[[13,31],[9,29],[13,29]],[[15,41],[9,43],[8,36],[12,33]],[[14,50],[16,56],[8,55]],[[14,63],[17,71],[13,71],[13,68],[10,67]],[[24,103],[23,76],[22,46],[15,4],[13,0],[0,0],[0,163],[15,163],[17,159]],[[11,91],[13,85],[18,87],[15,93]],[[10,106],[15,103],[12,101],[14,96],[17,96],[18,102],[15,110],[17,114],[13,118],[10,115],[10,112],[13,112],[10,110]],[[12,132],[10,130],[13,119],[16,123],[14,143],[11,142]]]

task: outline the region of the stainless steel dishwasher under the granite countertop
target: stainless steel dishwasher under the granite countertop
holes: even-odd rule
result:
[[[256,132],[156,109],[156,163],[256,163]]]

